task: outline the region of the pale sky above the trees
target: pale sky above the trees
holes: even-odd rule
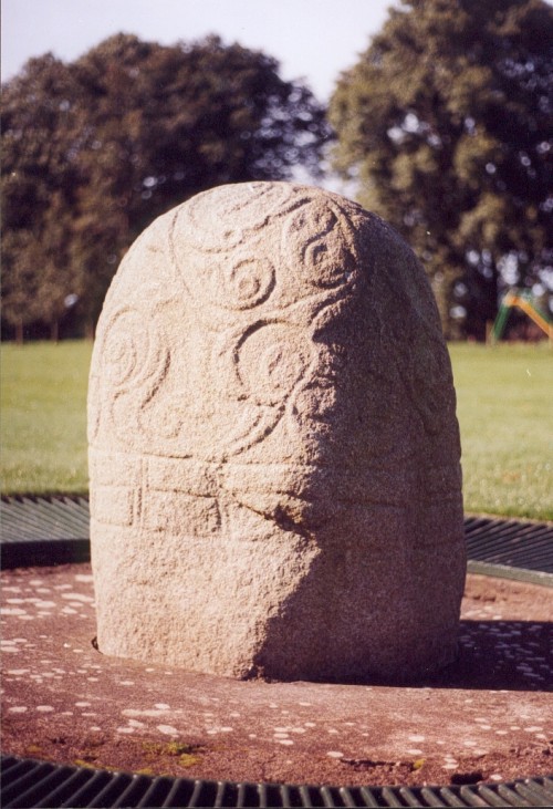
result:
[[[2,82],[31,56],[73,61],[112,34],[174,44],[208,33],[280,62],[327,101],[400,0],[1,0]]]

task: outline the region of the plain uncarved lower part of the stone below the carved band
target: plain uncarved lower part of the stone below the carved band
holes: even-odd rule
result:
[[[408,682],[439,671],[457,655],[462,536],[446,558],[390,549],[389,520],[380,542],[358,523],[319,546],[274,528],[262,540],[160,542],[103,526],[92,542],[100,651],[240,680]]]

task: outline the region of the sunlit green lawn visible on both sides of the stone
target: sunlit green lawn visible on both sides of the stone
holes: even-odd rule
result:
[[[2,492],[85,492],[92,344],[2,346]],[[553,519],[553,351],[450,346],[465,508]]]

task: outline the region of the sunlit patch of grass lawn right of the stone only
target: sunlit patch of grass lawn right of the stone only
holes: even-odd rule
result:
[[[449,346],[465,509],[553,520],[553,350]]]

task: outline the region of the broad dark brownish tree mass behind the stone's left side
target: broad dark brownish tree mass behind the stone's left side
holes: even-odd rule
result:
[[[319,172],[325,111],[278,69],[216,37],[161,46],[118,34],[70,64],[31,60],[3,87],[7,318],[19,322],[31,274],[29,318],[58,322],[59,301],[77,295],[91,331],[118,261],[155,217],[222,183]]]

